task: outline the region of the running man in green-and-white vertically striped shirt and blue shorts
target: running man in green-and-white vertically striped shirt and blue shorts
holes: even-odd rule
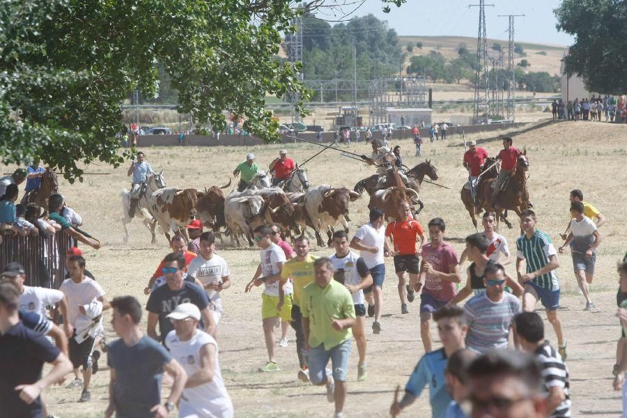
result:
[[[518,281],[525,287],[522,310],[532,312],[538,300],[546,310],[546,317],[557,335],[557,350],[566,360],[566,341],[562,323],[557,318],[559,308],[559,281],[555,270],[559,268],[557,251],[548,235],[536,229],[536,213],[525,209],[520,213],[520,229],[525,233],[516,240],[516,270]],[[526,266],[526,270],[525,269]]]

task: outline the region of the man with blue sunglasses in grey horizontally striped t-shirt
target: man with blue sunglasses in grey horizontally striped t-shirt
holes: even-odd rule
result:
[[[468,324],[466,346],[470,350],[486,353],[507,348],[509,329],[514,316],[520,312],[520,300],[506,293],[505,281],[503,266],[488,261],[483,273],[486,291],[464,305]]]

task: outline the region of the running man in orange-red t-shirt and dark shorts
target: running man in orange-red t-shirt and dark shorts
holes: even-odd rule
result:
[[[403,201],[398,207],[398,220],[387,224],[385,236],[391,238],[394,243],[394,270],[398,276],[398,297],[401,298],[401,313],[409,314],[407,302],[414,300],[414,291],[407,284],[405,272],[408,272],[410,280],[418,280],[418,256],[424,242],[424,231],[422,226],[412,217],[407,202]],[[418,237],[420,240],[418,248],[416,248]]]

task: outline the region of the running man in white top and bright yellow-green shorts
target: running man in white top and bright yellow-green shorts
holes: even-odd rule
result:
[[[269,226],[258,226],[254,231],[254,240],[261,248],[261,263],[257,267],[253,278],[246,285],[245,293],[251,291],[254,286],[265,284],[261,295],[261,319],[263,320],[263,334],[265,336],[265,348],[268,350],[268,362],[260,371],[279,371],[279,364],[274,361],[274,324],[281,318],[291,322],[292,320],[292,284],[287,281],[283,287],[286,295],[281,310],[277,311],[279,304],[279,281],[281,270],[286,262],[285,253],[270,239],[272,230]],[[290,295],[289,297],[287,297]]]

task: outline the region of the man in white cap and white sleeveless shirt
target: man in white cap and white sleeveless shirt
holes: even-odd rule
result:
[[[174,330],[166,337],[170,354],[183,366],[187,382],[178,405],[179,417],[233,417],[233,403],[226,393],[215,339],[198,329],[200,310],[182,303],[168,318]]]

